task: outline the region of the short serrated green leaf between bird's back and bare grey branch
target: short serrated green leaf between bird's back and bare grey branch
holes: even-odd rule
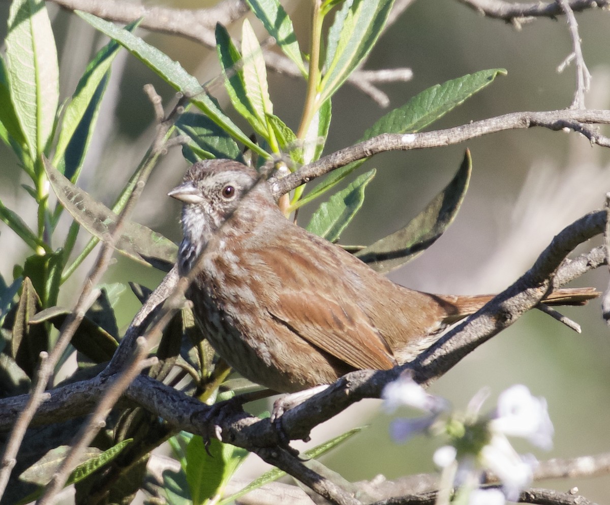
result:
[[[341,232],[350,224],[364,202],[364,188],[375,177],[375,168],[357,177],[345,189],[331,196],[314,212],[307,230],[326,238],[329,242],[339,240]]]

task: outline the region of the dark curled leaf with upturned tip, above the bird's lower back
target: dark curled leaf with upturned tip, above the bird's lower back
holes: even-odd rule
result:
[[[445,232],[456,217],[470,181],[472,159],[464,160],[451,182],[404,228],[378,240],[355,256],[378,272],[389,272],[415,259]]]

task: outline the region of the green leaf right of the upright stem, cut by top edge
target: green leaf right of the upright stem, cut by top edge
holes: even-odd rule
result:
[[[318,103],[325,102],[356,70],[375,45],[393,0],[347,0],[329,30],[326,73]]]

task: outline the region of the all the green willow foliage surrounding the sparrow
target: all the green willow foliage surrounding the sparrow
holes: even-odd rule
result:
[[[0,366],[6,372],[0,380],[8,395],[24,392],[34,381],[40,353],[52,348],[57,338],[54,328],[61,328],[71,314],[69,309],[57,306],[62,285],[73,276],[96,243],[117,235],[114,247],[118,253],[157,268],[167,269],[176,256],[176,246],[170,240],[138,223],[124,220],[120,230],[115,231],[118,216],[136,190],[137,181],[148,177],[159,151],[149,150],[112,208],[77,186],[98,122],[111,65],[118,52],[129,51],[187,98],[185,109],[188,110],[168,125],[162,140],[182,135],[183,153],[189,162],[211,157],[244,160],[242,152],[246,148],[257,155],[259,166],[272,162],[277,167],[295,171],[304,163],[320,158],[331,123],[332,96],[364,62],[381,35],[392,7],[392,2],[383,0],[321,2],[314,8],[312,45],[309,54],[304,55],[292,21],[278,1],[249,0],[248,4],[307,81],[301,123],[293,131],[274,114],[262,49],[249,22],[243,22],[239,48],[226,27],[217,26],[218,60],[232,109],[246,121],[259,142],[251,140],[249,132],[244,132],[231,119],[232,113],[225,112],[207,88],[180,63],[135,34],[137,22],[121,28],[91,14],[77,12],[109,36],[110,41],[91,60],[69,98],[59,104],[56,41],[45,2],[13,0],[6,52],[0,59],[0,102],[3,104],[0,137],[12,149],[16,163],[31,181],[24,186],[24,191],[37,208],[37,223],[32,229],[18,212],[0,202],[0,218],[31,250],[21,265],[15,267],[12,280],[0,277],[0,323],[4,335]],[[334,20],[325,23],[331,13]],[[327,26],[326,40],[323,40]],[[501,69],[482,70],[424,90],[373,124],[364,132],[362,140],[382,132],[419,131],[504,73]],[[290,197],[286,212],[326,199],[317,203],[308,228],[328,240],[339,240],[361,209],[365,188],[375,176],[375,169],[355,174],[343,189],[336,190],[336,185],[364,162],[360,160],[335,171],[307,195],[304,187],[298,188]],[[387,271],[421,253],[447,229],[458,212],[469,175],[470,155],[467,154],[453,181],[420,215],[403,229],[362,249],[358,256],[370,262],[371,267]],[[49,187],[57,196],[56,203],[49,198]],[[58,227],[64,211],[73,218],[66,234]],[[91,237],[85,246],[77,249],[76,239],[81,228]],[[123,288],[124,285],[102,286],[87,311],[62,359],[63,362],[70,354],[77,353],[79,369],[73,379],[90,376],[112,357],[121,338],[113,305]],[[212,351],[202,342],[188,309],[182,310],[165,330],[157,356],[161,365],[149,370],[151,376],[166,380],[175,366],[186,371],[185,376],[190,378],[185,390],[202,398],[215,398],[218,386],[226,377],[226,370],[214,367]],[[78,477],[71,480],[76,483],[77,493],[82,496],[92,486],[112,487],[113,496],[128,501],[142,482],[150,451],[170,434],[170,426],[141,409],[117,408],[106,431],[96,439],[97,454],[79,466]],[[342,436],[329,442],[324,445],[324,451],[346,438]],[[27,441],[24,443],[27,445]],[[209,457],[207,449],[217,457]],[[99,454],[100,451],[104,452]],[[321,449],[314,451],[310,456],[321,452]],[[244,456],[242,451],[221,446],[215,440],[209,448],[200,439],[190,440],[182,465],[190,500],[205,503],[210,496],[221,493]],[[197,463],[193,464],[193,460]],[[40,459],[36,464],[44,461]],[[201,475],[196,475],[193,468],[216,478],[207,479],[206,489],[200,489]],[[27,475],[22,475],[23,479],[27,480]],[[267,480],[262,479],[256,485]],[[111,485],[112,482],[119,484]],[[13,487],[9,499],[21,500],[35,492],[34,487],[41,481],[29,483],[29,486]],[[172,488],[168,481],[168,493]],[[186,500],[187,496],[182,498]]]

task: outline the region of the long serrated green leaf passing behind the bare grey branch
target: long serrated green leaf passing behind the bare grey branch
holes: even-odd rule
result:
[[[498,75],[506,75],[506,70],[503,68],[481,70],[474,74],[451,79],[443,84],[436,84],[409,99],[404,106],[392,110],[376,121],[358,141],[362,142],[382,133],[404,134],[420,131],[487,87]],[[317,198],[338,184],[365,161],[366,159],[358,160],[332,171],[307,195],[308,201]]]

